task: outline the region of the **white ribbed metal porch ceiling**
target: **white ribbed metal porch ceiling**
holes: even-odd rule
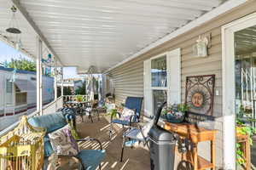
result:
[[[9,2],[0,0],[0,33],[9,24]],[[79,71],[90,65],[106,71],[221,3],[224,0],[20,0],[61,63]],[[22,42],[36,54],[37,34],[21,23]]]

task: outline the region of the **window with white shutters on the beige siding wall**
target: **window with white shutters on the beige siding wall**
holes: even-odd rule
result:
[[[180,48],[144,61],[144,115],[154,116],[164,102],[181,102]]]

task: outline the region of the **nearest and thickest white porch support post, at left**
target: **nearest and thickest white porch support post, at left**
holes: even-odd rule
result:
[[[42,84],[42,41],[38,37],[37,41],[38,57],[37,57],[37,112],[43,115],[43,84]]]

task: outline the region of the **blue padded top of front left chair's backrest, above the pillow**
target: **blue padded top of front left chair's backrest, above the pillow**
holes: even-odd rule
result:
[[[34,127],[46,128],[46,133],[51,133],[56,129],[67,125],[65,117],[62,116],[61,112],[56,112],[54,114],[49,114],[45,116],[33,116],[29,118],[28,122]]]

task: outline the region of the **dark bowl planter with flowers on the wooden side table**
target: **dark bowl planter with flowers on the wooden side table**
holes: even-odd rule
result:
[[[170,105],[164,109],[163,114],[167,122],[180,123],[183,122],[185,112],[189,111],[189,106],[186,104]]]

